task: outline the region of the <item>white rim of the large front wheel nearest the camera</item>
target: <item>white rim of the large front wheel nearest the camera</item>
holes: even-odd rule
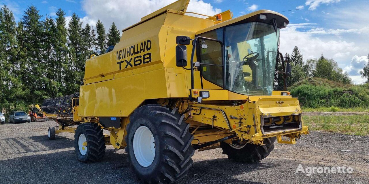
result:
[[[133,137],[133,152],[142,167],[152,164],[155,157],[155,139],[149,128],[138,127]]]

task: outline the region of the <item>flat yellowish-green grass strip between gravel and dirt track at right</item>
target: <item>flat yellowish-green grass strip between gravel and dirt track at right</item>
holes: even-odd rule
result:
[[[369,135],[369,115],[303,116],[309,130],[341,132],[350,135]]]

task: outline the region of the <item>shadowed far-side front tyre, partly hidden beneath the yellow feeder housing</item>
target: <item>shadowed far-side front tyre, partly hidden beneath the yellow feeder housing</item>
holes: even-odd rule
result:
[[[228,159],[233,159],[236,162],[253,163],[269,156],[274,149],[275,140],[275,137],[266,138],[263,142],[265,145],[262,146],[249,143],[230,145],[221,142],[220,147],[223,149],[223,154],[228,155]]]

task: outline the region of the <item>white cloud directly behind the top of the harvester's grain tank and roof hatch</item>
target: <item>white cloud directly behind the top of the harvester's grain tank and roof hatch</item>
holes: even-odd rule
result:
[[[100,19],[108,30],[108,26],[115,22],[119,30],[127,28],[141,20],[142,17],[173,3],[175,0],[83,0],[82,8],[87,16],[83,17],[83,24],[89,23],[95,26]],[[104,10],[104,11],[101,11]],[[215,15],[221,12],[221,9],[214,8],[210,3],[202,0],[190,1],[187,11],[192,11],[205,15]],[[203,17],[200,15],[188,14],[195,17]]]

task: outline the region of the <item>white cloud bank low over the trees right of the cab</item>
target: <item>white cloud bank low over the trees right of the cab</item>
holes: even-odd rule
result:
[[[324,29],[316,28],[314,23],[289,24],[280,33],[280,52],[291,53],[293,47],[299,47],[304,60],[318,58],[323,53],[327,58],[337,61],[344,71],[348,72],[355,84],[365,82],[359,71],[368,62],[367,47],[362,47],[358,40],[347,39],[347,36],[358,37],[365,33],[363,29]],[[304,31],[302,31],[304,30]],[[345,34],[349,33],[349,34]],[[337,36],[340,35],[340,36]],[[353,57],[354,56],[354,57]],[[350,62],[351,61],[351,62]]]

